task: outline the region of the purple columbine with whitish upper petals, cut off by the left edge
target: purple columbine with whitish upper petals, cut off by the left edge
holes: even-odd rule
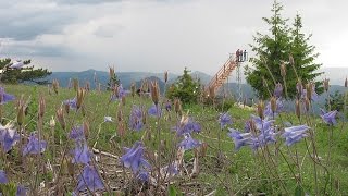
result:
[[[0,143],[5,152],[10,151],[17,140],[20,140],[20,135],[13,128],[13,124],[9,123],[5,126],[0,124]]]

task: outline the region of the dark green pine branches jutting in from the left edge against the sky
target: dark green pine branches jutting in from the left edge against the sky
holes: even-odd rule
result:
[[[20,66],[14,66],[15,63],[22,62],[11,62],[11,59],[0,60],[0,70],[2,70],[0,79],[2,83],[17,84],[32,82],[40,85],[48,83],[47,79],[42,79],[51,74],[47,69],[34,69],[33,65],[29,65],[30,60],[23,61],[23,64]]]

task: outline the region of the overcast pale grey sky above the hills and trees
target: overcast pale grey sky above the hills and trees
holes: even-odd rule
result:
[[[72,3],[73,2],[73,3]],[[348,2],[286,0],[326,68],[347,66]],[[214,74],[229,52],[249,49],[273,0],[0,0],[1,57],[30,58],[52,71]]]

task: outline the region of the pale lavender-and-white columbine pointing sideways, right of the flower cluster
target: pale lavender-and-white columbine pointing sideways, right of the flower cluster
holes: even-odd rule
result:
[[[285,138],[285,144],[287,146],[291,146],[293,144],[301,140],[303,137],[307,137],[307,131],[309,128],[310,127],[307,125],[286,127],[284,134],[282,134],[282,137]]]

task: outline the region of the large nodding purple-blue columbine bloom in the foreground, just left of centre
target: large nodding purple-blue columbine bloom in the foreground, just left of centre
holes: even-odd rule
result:
[[[141,168],[150,168],[147,160],[144,159],[144,146],[141,142],[135,142],[132,148],[125,148],[126,154],[121,157],[121,162],[126,168],[132,168],[134,174],[137,174]]]

